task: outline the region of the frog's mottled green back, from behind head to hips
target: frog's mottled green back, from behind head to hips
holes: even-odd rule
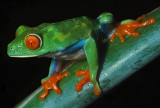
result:
[[[87,39],[95,24],[94,20],[85,16],[52,23],[47,26],[44,37],[54,45],[54,51]]]

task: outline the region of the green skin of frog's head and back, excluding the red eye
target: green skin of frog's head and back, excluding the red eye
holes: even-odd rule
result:
[[[8,55],[13,57],[40,56],[48,52],[66,48],[90,36],[93,27],[98,24],[87,17],[79,17],[57,23],[43,23],[37,27],[20,26],[16,38],[8,45]],[[29,34],[37,34],[42,45],[37,50],[30,50],[25,45]]]

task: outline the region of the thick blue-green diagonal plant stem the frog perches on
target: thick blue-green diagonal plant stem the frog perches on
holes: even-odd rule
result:
[[[100,86],[104,92],[107,92],[160,55],[160,8],[149,13],[144,20],[151,17],[155,17],[157,21],[152,25],[137,29],[141,34],[140,37],[126,36],[124,43],[121,43],[119,38],[116,37],[114,42],[109,43],[105,62],[99,77]],[[45,100],[41,101],[39,96],[44,91],[41,86],[16,107],[85,107],[99,97],[94,95],[91,83],[86,84],[80,92],[75,90],[75,85],[81,80],[81,78],[75,76],[75,72],[87,68],[87,61],[83,60],[76,62],[67,70],[70,71],[70,75],[59,83],[62,94],[56,94],[51,90]]]

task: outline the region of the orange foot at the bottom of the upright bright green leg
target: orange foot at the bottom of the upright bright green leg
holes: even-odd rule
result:
[[[76,72],[76,76],[81,77],[83,76],[82,80],[76,85],[76,91],[79,92],[82,90],[83,85],[88,83],[88,82],[92,82],[91,81],[91,77],[90,77],[90,73],[89,73],[89,69],[87,70],[83,70],[83,71],[77,71]],[[93,82],[92,82],[93,83]],[[93,83],[94,84],[94,83]],[[95,85],[97,85],[98,83],[94,84],[94,93],[96,95],[100,95],[101,90],[100,88],[96,87]]]

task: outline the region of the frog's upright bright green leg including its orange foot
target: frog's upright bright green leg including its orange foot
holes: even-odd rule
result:
[[[76,85],[76,91],[82,90],[83,85],[87,82],[92,82],[94,85],[94,93],[99,95],[101,93],[99,84],[97,82],[97,72],[98,72],[98,52],[96,47],[96,42],[92,37],[86,40],[84,44],[84,52],[89,64],[89,69],[85,71],[77,71],[76,75],[81,77],[84,75],[83,79]]]

